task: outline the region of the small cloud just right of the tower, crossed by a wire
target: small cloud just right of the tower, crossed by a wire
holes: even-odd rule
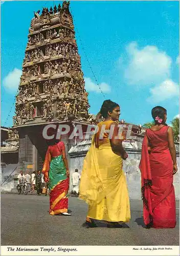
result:
[[[96,93],[101,93],[101,90],[103,93],[110,93],[111,89],[110,86],[105,83],[102,82],[99,84],[101,90],[99,89],[98,85],[96,83],[94,83],[91,78],[89,77],[84,77],[85,80],[85,89],[87,92],[96,92]]]

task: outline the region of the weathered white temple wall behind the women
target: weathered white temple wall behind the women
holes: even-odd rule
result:
[[[77,146],[73,146],[69,151],[69,168],[70,168],[70,190],[72,187],[72,173],[76,168],[79,174],[82,172],[83,159],[88,151],[91,141],[83,141]],[[123,161],[123,172],[126,175],[128,193],[130,199],[141,200],[141,172],[139,164],[141,160],[142,139],[139,141],[124,141],[123,146],[128,154],[128,158]],[[176,145],[177,166],[179,172],[179,152]],[[179,200],[179,174],[174,175],[174,188],[176,200]]]

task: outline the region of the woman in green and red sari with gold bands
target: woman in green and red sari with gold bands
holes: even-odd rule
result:
[[[48,150],[42,173],[44,181],[49,182],[50,215],[71,215],[68,213],[69,168],[62,141],[48,141]]]

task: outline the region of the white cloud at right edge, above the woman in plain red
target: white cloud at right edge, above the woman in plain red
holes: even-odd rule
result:
[[[167,79],[150,89],[151,96],[147,98],[147,101],[159,103],[172,97],[178,97],[178,92],[178,84]]]

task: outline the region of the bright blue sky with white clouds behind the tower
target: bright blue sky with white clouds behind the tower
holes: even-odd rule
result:
[[[55,1],[56,5],[59,3],[62,4]],[[1,5],[2,125],[12,125],[12,104],[33,11],[53,4],[54,1],[29,1]],[[178,5],[178,2],[71,2],[92,114],[99,112],[105,98],[119,103],[121,118],[130,123],[151,121],[155,105],[167,109],[168,123],[179,114]],[[83,47],[105,98],[97,87]]]

